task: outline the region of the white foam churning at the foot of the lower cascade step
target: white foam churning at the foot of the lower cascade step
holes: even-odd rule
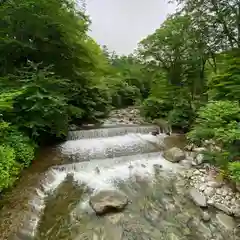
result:
[[[106,166],[106,163],[109,163],[109,165]],[[129,157],[128,161],[117,162],[115,164],[113,162],[111,164],[109,159],[105,161],[94,161],[93,164],[89,162],[88,168],[84,168],[84,172],[74,170],[70,172],[73,174],[75,181],[78,181],[80,184],[85,184],[97,191],[113,188],[116,180],[124,181],[133,175],[151,178],[154,174],[154,165],[156,164],[160,164],[165,171],[176,172],[181,169],[179,164],[165,160],[161,154],[158,154],[158,156],[155,154],[155,156],[141,159]],[[95,170],[96,166],[99,169],[99,173]]]

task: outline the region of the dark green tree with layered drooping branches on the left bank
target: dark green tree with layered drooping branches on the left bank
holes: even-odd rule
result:
[[[10,119],[35,139],[66,135],[68,128],[67,103],[61,79],[48,69],[32,64],[30,72],[22,73],[24,86],[13,99],[14,117]]]

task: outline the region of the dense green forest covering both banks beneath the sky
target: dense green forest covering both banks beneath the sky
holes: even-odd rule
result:
[[[240,3],[178,0],[129,56],[100,47],[73,0],[0,1],[0,190],[70,124],[140,107],[201,145],[240,182]]]

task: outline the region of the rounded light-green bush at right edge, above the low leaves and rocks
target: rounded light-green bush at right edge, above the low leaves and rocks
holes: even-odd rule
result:
[[[193,142],[213,139],[222,147],[230,147],[240,139],[240,107],[237,102],[216,101],[200,108],[195,126],[188,133]]]

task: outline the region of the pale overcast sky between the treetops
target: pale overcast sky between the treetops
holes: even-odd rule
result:
[[[129,54],[160,27],[175,6],[168,0],[86,0],[90,35],[117,54]]]

